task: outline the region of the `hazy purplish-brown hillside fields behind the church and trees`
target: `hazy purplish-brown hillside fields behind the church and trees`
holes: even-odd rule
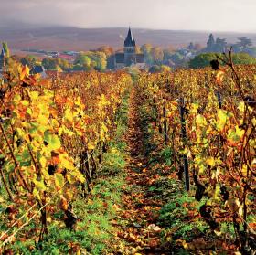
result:
[[[123,47],[126,28],[14,28],[0,27],[0,41],[7,41],[10,48],[41,48],[46,50],[88,50],[101,45],[111,45],[113,48]],[[138,45],[151,43],[167,48],[187,45],[190,41],[206,45],[210,32],[152,30],[134,28],[133,35]],[[256,34],[213,33],[215,37],[226,38],[234,43],[237,37],[249,37],[256,46]]]

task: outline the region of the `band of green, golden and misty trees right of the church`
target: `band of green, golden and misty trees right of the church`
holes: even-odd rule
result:
[[[239,37],[235,44],[228,44],[226,39],[212,34],[208,37],[207,47],[192,43],[187,48],[160,48],[150,44],[144,44],[140,51],[145,55],[145,62],[151,69],[162,69],[162,65],[169,67],[189,67],[200,68],[209,65],[212,58],[216,58],[216,53],[222,53],[226,48],[232,46],[235,64],[255,64],[256,48],[252,47],[250,38]]]

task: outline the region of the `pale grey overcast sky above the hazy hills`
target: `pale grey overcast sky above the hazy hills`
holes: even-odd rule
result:
[[[76,27],[256,32],[256,0],[0,0],[6,20]]]

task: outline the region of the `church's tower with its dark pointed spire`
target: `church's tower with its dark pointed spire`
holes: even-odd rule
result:
[[[124,63],[126,66],[136,64],[136,43],[133,38],[133,33],[129,27],[128,34],[124,40]]]

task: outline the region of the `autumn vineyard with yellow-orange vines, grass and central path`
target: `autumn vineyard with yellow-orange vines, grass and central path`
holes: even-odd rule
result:
[[[3,254],[255,254],[256,66],[0,90]]]

